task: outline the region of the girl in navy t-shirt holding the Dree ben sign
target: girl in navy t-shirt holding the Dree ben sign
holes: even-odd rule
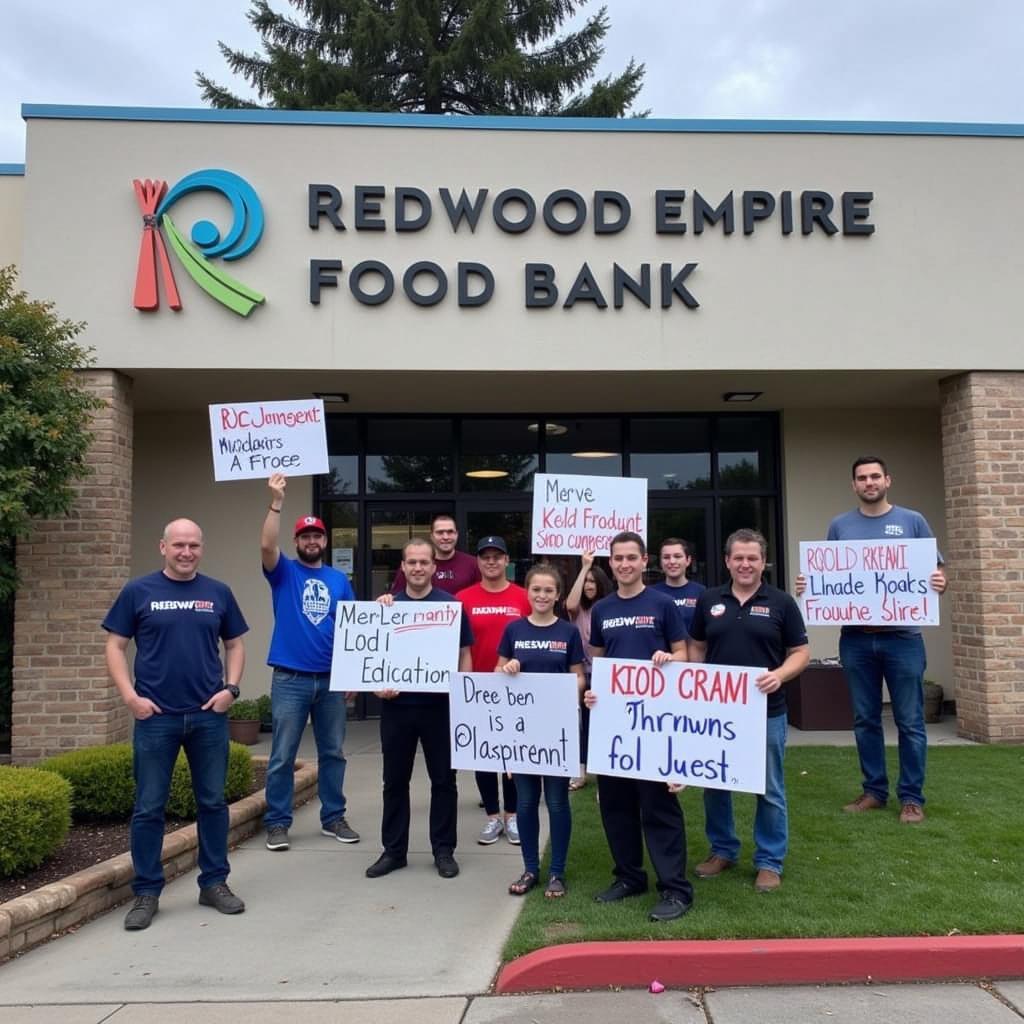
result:
[[[509,623],[498,645],[498,671],[574,673],[580,692],[584,688],[583,641],[577,628],[555,614],[561,596],[561,578],[552,565],[541,563],[526,573],[529,614]],[[544,895],[556,899],[565,895],[565,860],[568,856],[572,814],[569,810],[569,780],[555,775],[515,774],[518,794],[519,838],[522,842],[523,872],[512,885],[513,896],[524,896],[541,873],[541,787],[548,805],[551,830],[551,874]]]

